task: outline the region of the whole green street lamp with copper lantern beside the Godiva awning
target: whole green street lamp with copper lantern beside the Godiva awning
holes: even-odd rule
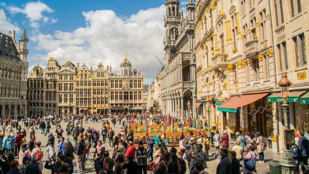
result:
[[[286,72],[282,72],[281,80],[278,82],[278,85],[281,87],[281,98],[282,98],[282,110],[284,116],[284,144],[285,148],[283,150],[281,165],[282,173],[293,173],[294,171],[294,162],[290,150],[290,145],[294,144],[294,129],[290,128],[290,122],[288,117],[289,105],[287,103],[289,98],[289,88],[291,86],[291,81],[287,78]]]

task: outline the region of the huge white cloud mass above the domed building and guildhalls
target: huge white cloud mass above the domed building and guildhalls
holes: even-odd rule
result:
[[[119,64],[127,52],[132,68],[142,70],[144,79],[150,81],[161,68],[155,55],[161,61],[164,56],[162,14],[165,10],[162,5],[141,10],[128,18],[116,16],[111,10],[83,11],[86,27],[71,32],[37,34],[30,40],[37,44],[37,50],[48,52],[39,56],[39,61],[46,62],[49,57],[55,57],[60,64],[70,60],[96,66],[102,62],[111,65],[112,71],[120,69]],[[33,56],[33,59],[38,59],[38,56]]]

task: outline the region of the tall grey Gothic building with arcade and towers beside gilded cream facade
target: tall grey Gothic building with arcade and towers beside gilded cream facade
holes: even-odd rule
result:
[[[187,120],[188,115],[196,116],[191,105],[196,103],[196,59],[194,53],[194,7],[188,0],[186,17],[179,11],[179,0],[166,0],[164,15],[164,68],[160,72],[162,113]],[[178,109],[177,109],[178,106]]]

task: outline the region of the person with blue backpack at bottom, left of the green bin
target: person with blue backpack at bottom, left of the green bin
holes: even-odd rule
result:
[[[256,150],[256,146],[251,145],[243,154],[243,174],[257,173],[255,169],[255,158],[257,155],[254,153],[254,150]]]

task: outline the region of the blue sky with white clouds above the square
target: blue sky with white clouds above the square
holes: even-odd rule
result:
[[[180,0],[184,10],[188,0]],[[60,65],[71,61],[90,69],[102,63],[120,70],[127,59],[132,69],[143,71],[150,84],[164,64],[163,37],[165,0],[42,0],[0,1],[0,30],[15,30],[15,40],[26,26],[28,72],[54,57]]]

